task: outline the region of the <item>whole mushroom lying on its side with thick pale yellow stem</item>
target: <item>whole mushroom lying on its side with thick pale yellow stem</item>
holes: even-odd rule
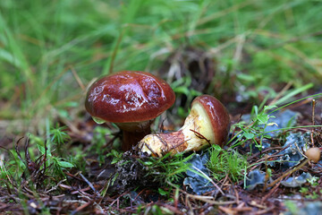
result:
[[[226,108],[216,98],[202,95],[191,103],[191,112],[179,131],[148,134],[139,142],[142,155],[162,157],[167,152],[201,150],[210,144],[223,147],[230,129]]]

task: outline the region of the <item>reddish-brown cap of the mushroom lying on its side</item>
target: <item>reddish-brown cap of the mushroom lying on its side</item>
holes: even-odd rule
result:
[[[223,146],[230,129],[230,117],[224,105],[215,97],[202,95],[194,99],[191,107],[199,103],[208,113],[213,132],[215,134],[215,144]]]

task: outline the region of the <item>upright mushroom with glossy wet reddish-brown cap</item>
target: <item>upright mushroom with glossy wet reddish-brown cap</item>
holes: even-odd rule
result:
[[[174,90],[156,76],[123,71],[94,82],[85,107],[97,123],[111,122],[123,131],[125,151],[150,133],[151,123],[174,104],[174,99]]]

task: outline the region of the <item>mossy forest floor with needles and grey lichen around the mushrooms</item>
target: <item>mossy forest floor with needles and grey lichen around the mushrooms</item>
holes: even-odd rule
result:
[[[271,101],[267,100],[267,104]],[[233,127],[224,150],[210,147],[162,159],[140,158],[135,148],[124,153],[114,150],[122,134],[113,125],[97,125],[85,112],[77,123],[66,124],[58,119],[59,127],[50,134],[52,142],[58,142],[55,152],[45,150],[50,142],[43,142],[41,148],[37,138],[28,135],[2,146],[13,149],[3,153],[2,160],[15,158],[22,166],[12,162],[14,172],[1,163],[4,177],[0,211],[6,214],[280,214],[282,211],[318,214],[322,207],[322,162],[304,166],[301,163],[305,162],[305,150],[322,147],[321,127],[312,126],[321,125],[320,109],[315,108],[321,106],[320,102],[321,99],[309,96],[270,115],[267,111],[250,115],[250,105],[233,103],[232,99],[223,97],[226,107],[233,107],[229,109]],[[177,112],[174,107],[167,117],[175,118],[172,115]],[[260,116],[267,116],[267,122],[260,124]],[[157,122],[157,131],[182,124],[180,120]],[[277,130],[267,130],[274,126]],[[271,130],[275,131],[267,132]],[[268,135],[263,136],[264,133]],[[29,148],[35,150],[35,144],[38,156],[30,159]],[[86,155],[79,165],[60,159],[66,158],[66,151],[73,150]],[[192,168],[202,174],[191,172]]]

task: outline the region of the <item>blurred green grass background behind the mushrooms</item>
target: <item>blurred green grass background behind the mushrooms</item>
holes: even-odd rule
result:
[[[321,18],[320,0],[0,1],[1,138],[41,133],[56,117],[81,120],[94,78],[174,68],[186,47],[214,62],[207,92],[233,92],[226,100],[274,97],[287,84],[317,92]],[[188,82],[167,74],[175,88]]]

